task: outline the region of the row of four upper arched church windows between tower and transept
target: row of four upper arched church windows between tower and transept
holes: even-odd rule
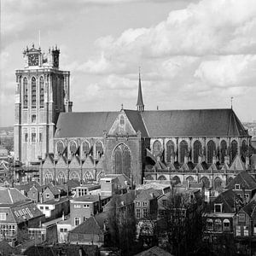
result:
[[[88,154],[90,154],[90,143],[84,141],[82,144],[81,144],[81,156],[82,157],[86,157]],[[61,155],[64,153],[65,151],[65,145],[62,141],[58,141],[56,143],[56,146],[55,146],[55,152],[56,154],[58,155]],[[72,157],[74,154],[76,154],[79,150],[79,147],[77,145],[77,143],[75,141],[71,141],[69,144],[68,144],[68,147],[67,147],[67,152],[68,152],[68,156],[69,157]],[[94,156],[96,158],[100,157],[101,155],[103,154],[103,145],[100,141],[96,141],[95,145],[94,145]]]

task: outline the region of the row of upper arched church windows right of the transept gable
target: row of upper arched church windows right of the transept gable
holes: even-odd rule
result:
[[[193,155],[189,155],[191,154],[189,152],[189,144],[184,140],[181,143],[179,143],[178,150],[179,150],[178,152],[179,161],[181,163],[184,162],[184,159],[186,156],[190,156],[194,163],[198,163],[199,157],[202,154],[204,154],[203,153],[204,149],[202,147],[202,144],[198,140],[195,141],[195,143],[193,144]],[[236,142],[236,140],[233,140],[230,144],[230,160],[231,161],[234,160],[237,152],[238,152],[238,143]],[[153,154],[155,156],[161,156],[162,153],[163,153],[163,149],[162,149],[161,143],[160,141],[156,140],[153,143]],[[175,152],[175,145],[170,140],[166,143],[166,161],[170,162],[171,158],[174,157],[175,154],[177,154],[177,152]],[[221,163],[224,163],[224,157],[228,154],[229,152],[228,152],[226,141],[224,140],[221,141],[219,152],[217,152],[216,143],[214,143],[212,140],[210,140],[207,143],[207,148],[206,148],[207,163],[212,163],[214,155],[219,157],[219,160]],[[247,154],[247,142],[245,140],[242,141],[241,143],[241,154],[244,156]]]

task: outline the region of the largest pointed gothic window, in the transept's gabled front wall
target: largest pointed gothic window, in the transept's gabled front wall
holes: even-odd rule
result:
[[[131,176],[131,151],[125,144],[120,144],[113,152],[114,172],[124,173],[127,177]]]

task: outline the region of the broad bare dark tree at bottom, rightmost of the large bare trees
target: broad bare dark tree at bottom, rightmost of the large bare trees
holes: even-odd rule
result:
[[[175,193],[174,193],[175,192]],[[174,255],[189,255],[201,247],[204,221],[203,202],[188,193],[172,190],[166,201],[161,236],[166,237],[165,249]]]

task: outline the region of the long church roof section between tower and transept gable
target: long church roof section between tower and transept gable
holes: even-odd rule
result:
[[[102,137],[119,112],[60,113],[55,137]]]

